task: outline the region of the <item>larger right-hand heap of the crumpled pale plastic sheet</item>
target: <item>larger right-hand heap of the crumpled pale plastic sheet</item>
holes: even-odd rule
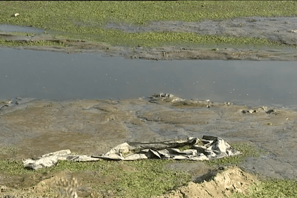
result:
[[[178,149],[185,146],[191,148],[186,150]],[[99,157],[113,160],[183,159],[200,161],[238,154],[240,152],[232,148],[223,139],[203,136],[202,140],[188,138],[156,143],[123,143]]]

